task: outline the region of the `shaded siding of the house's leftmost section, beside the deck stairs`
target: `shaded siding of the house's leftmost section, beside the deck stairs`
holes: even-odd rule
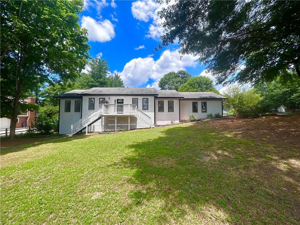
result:
[[[64,112],[65,101],[71,101],[70,112]],[[59,108],[59,132],[58,134],[70,134],[71,125],[81,119],[81,112],[75,113],[75,101],[80,101],[81,99],[61,99]]]

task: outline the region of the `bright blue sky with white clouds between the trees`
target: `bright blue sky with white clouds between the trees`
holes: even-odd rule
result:
[[[152,53],[160,43],[162,28],[155,1],[84,1],[79,24],[88,29],[90,56],[108,61],[128,87],[156,87],[165,73],[184,69],[192,76],[205,73],[196,56],[179,58],[179,46]],[[217,89],[222,86],[218,85]]]

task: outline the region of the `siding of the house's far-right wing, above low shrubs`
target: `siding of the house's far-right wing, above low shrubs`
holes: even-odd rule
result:
[[[198,102],[198,113],[193,113],[192,102]],[[206,102],[207,112],[201,112],[201,102]],[[222,100],[181,100],[180,119],[188,119],[189,115],[194,115],[196,119],[207,118],[207,114],[220,113],[222,115]]]

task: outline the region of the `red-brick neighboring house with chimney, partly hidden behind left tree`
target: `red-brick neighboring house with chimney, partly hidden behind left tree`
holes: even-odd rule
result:
[[[28,103],[35,104],[35,98],[34,97],[28,97],[26,100]],[[26,113],[21,113],[21,115],[18,115],[16,128],[22,128],[22,123],[27,123],[26,126],[30,126],[32,124],[35,124],[36,120],[38,118],[38,111],[27,111]],[[1,118],[1,128],[0,129],[9,129],[11,120],[8,118]]]

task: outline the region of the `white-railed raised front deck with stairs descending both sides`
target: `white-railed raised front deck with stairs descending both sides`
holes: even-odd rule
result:
[[[71,135],[78,134],[79,132],[87,129],[88,126],[92,125],[99,119],[101,116],[135,116],[137,119],[140,119],[149,127],[152,128],[152,118],[146,113],[137,108],[133,104],[100,104],[99,108],[83,117],[76,123],[71,125]]]

